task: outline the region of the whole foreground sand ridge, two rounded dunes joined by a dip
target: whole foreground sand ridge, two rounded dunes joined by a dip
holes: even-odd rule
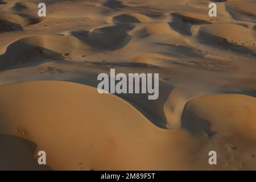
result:
[[[98,94],[90,86],[62,81],[2,85],[0,140],[4,150],[0,156],[5,163],[0,168],[46,169],[36,165],[37,152],[44,150],[48,169],[55,170],[255,169],[256,162],[250,158],[256,149],[251,120],[255,104],[255,98],[241,95],[196,98],[185,107],[183,129],[163,130],[125,101]],[[234,125],[230,125],[232,115],[222,118],[226,106],[233,106],[227,112],[233,109],[240,116]],[[251,111],[242,114],[245,106]],[[215,119],[214,113],[221,119]],[[195,115],[212,119],[212,135],[208,122]],[[195,130],[186,117],[197,122],[192,125]],[[239,131],[244,135],[232,133],[247,117],[251,117],[248,128]],[[236,151],[230,149],[233,145]],[[208,164],[210,150],[218,152],[218,166]]]

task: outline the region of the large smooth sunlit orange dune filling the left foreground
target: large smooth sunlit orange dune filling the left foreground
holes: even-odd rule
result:
[[[0,133],[34,143],[36,151],[19,143],[34,157],[46,151],[51,169],[171,169],[172,163],[162,165],[170,155],[166,149],[190,140],[175,139],[188,134],[159,129],[118,97],[100,95],[85,85],[24,82],[0,86],[0,97]],[[179,155],[184,155],[184,147]],[[9,169],[17,166],[11,162]],[[5,164],[0,168],[6,169]]]

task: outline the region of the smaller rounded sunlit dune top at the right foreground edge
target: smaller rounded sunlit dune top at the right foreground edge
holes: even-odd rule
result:
[[[211,130],[218,133],[234,135],[244,140],[256,140],[254,97],[240,94],[199,97],[189,101],[186,110],[193,114],[190,115],[191,124],[204,120],[210,122]]]

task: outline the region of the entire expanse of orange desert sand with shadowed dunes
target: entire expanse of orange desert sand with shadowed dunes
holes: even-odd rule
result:
[[[0,169],[255,170],[255,22],[255,1],[0,1]],[[159,99],[99,94],[110,68],[159,73]]]

